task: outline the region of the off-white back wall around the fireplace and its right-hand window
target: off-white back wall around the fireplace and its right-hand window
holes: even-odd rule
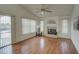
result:
[[[62,34],[62,20],[67,19],[68,20],[68,33],[67,35]],[[49,35],[47,33],[47,22],[49,20],[55,20],[57,23],[57,36],[56,35]],[[70,16],[54,16],[54,17],[48,17],[44,20],[44,35],[45,36],[50,36],[50,37],[63,37],[63,38],[71,38],[71,20]]]

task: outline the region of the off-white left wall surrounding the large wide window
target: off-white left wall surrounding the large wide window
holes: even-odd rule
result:
[[[22,41],[24,39],[27,39],[29,37],[32,37],[35,35],[35,33],[23,35],[22,34],[22,24],[21,24],[21,17],[26,17],[30,19],[37,20],[38,18],[29,13],[28,11],[24,10],[19,5],[0,5],[0,14],[7,14],[11,16],[15,16],[14,18],[14,29],[12,29],[13,32],[15,32],[15,38],[13,38],[12,42],[16,43],[19,41]],[[13,24],[13,23],[12,23]]]

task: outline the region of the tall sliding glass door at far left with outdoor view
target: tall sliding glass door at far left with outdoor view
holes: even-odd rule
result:
[[[0,47],[11,44],[11,16],[0,15]]]

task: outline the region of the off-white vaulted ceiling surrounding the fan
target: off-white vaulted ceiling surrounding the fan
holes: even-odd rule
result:
[[[44,6],[53,12],[45,12],[45,14],[42,15],[40,10],[42,8],[42,4],[24,4],[22,6],[40,18],[53,16],[70,16],[74,7],[74,5],[71,4],[45,4]]]

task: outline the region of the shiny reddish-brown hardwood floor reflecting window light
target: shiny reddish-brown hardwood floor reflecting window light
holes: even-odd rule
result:
[[[1,54],[76,54],[70,39],[33,37],[0,49]]]

